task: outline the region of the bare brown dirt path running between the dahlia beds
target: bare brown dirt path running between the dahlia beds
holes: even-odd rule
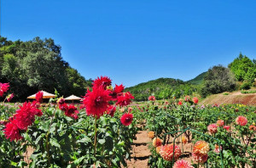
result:
[[[147,131],[140,131],[136,135],[137,140],[133,140],[131,160],[127,161],[128,168],[148,168],[148,157],[151,155],[148,149]]]

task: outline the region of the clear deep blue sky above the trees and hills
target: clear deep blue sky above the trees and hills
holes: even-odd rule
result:
[[[256,59],[256,1],[1,0],[1,36],[53,38],[86,79],[126,87]]]

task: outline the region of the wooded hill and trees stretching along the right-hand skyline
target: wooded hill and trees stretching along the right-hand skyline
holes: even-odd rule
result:
[[[181,98],[192,94],[200,94],[201,97],[206,98],[220,92],[256,87],[255,79],[256,60],[251,60],[240,53],[228,67],[215,65],[192,80],[160,78],[127,87],[126,91],[131,92],[137,101],[145,101],[150,95],[154,95],[156,99]]]

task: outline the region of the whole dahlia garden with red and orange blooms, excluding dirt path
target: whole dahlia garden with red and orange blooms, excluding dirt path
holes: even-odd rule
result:
[[[131,104],[131,93],[106,76],[81,104],[67,104],[58,92],[48,104],[42,92],[9,104],[9,87],[0,83],[1,167],[126,167],[142,130],[152,139],[148,167],[256,166],[253,106],[198,105],[189,96]]]

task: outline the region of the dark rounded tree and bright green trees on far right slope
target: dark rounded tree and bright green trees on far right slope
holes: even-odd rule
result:
[[[237,89],[247,90],[256,87],[256,60],[246,55],[234,59],[228,67],[216,65],[210,68],[200,86],[203,98],[210,94],[231,92]]]

